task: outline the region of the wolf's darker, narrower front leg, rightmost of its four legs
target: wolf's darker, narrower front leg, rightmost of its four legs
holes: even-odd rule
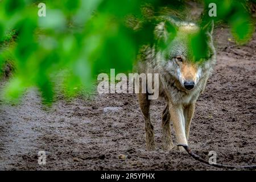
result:
[[[188,142],[190,125],[195,113],[196,103],[189,104],[187,107],[184,108],[184,117],[185,117],[185,133]]]

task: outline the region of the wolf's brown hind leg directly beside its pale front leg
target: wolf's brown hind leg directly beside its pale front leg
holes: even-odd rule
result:
[[[167,104],[166,109],[164,109],[162,114],[162,129],[163,129],[163,150],[171,150],[174,147],[171,138],[171,129],[170,129],[170,112],[169,106]]]

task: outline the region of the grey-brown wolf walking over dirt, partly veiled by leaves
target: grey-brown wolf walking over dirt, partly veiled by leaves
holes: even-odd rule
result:
[[[171,139],[173,122],[178,144],[187,144],[197,98],[204,92],[216,63],[212,40],[213,22],[200,27],[196,23],[163,18],[154,28],[156,42],[144,45],[138,54],[138,73],[159,73],[159,96],[167,101],[162,114],[163,150],[175,148]],[[191,44],[193,36],[204,35],[204,43]],[[164,45],[164,46],[162,46]],[[195,55],[194,48],[205,48]],[[164,48],[162,48],[164,47]],[[148,93],[138,93],[145,120],[146,148],[155,150],[154,126],[150,119]],[[183,150],[183,148],[177,148]]]

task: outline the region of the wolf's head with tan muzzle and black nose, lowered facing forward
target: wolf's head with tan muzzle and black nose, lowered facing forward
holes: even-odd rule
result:
[[[199,27],[195,23],[166,21],[155,28],[160,66],[184,89],[195,88],[212,69],[216,59],[212,31],[213,22]]]

